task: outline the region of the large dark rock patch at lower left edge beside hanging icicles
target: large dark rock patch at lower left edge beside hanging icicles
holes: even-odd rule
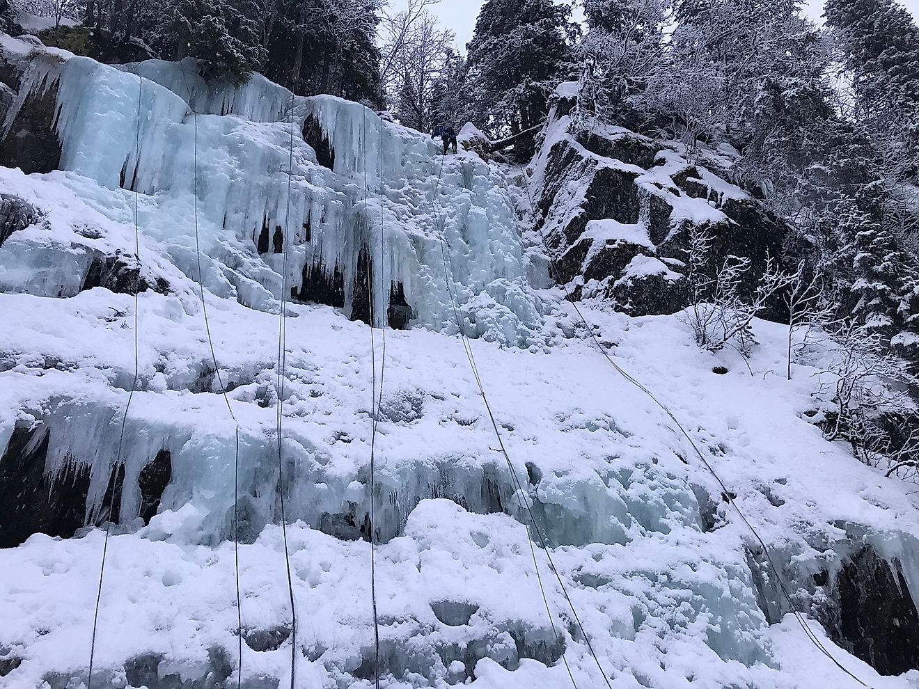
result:
[[[51,431],[16,428],[0,458],[0,548],[32,534],[71,537],[84,525],[88,466],[67,462],[57,476],[45,472]]]

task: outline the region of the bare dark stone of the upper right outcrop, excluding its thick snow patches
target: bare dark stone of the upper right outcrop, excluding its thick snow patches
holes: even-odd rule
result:
[[[561,102],[561,101],[560,101]],[[553,275],[562,283],[581,284],[607,280],[607,298],[618,309],[634,315],[673,313],[686,306],[685,260],[691,232],[689,220],[673,221],[675,198],[698,198],[726,218],[702,230],[712,235],[713,265],[729,254],[751,259],[751,270],[742,290],[753,290],[766,266],[766,258],[782,254],[786,226],[754,198],[731,198],[721,186],[706,182],[710,174],[698,165],[673,170],[675,156],[664,159],[661,146],[637,134],[572,130],[556,139],[546,154],[543,186],[537,202],[537,229],[546,229],[548,250],[556,258]],[[666,160],[666,180],[661,173],[637,184],[641,169]],[[686,199],[688,200],[688,199]],[[586,236],[592,220],[641,224],[650,243],[594,240]],[[597,246],[596,241],[603,241]],[[623,271],[639,255],[664,260],[669,270],[620,281]],[[581,299],[577,286],[573,299]],[[769,313],[761,315],[769,317]]]

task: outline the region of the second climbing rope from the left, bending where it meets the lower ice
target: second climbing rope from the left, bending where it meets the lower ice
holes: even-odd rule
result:
[[[192,121],[194,123],[194,146],[193,146],[193,168],[192,168],[192,200],[194,203],[195,219],[195,258],[198,265],[198,290],[201,301],[201,314],[204,318],[204,330],[208,335],[208,346],[210,347],[210,360],[214,365],[214,373],[217,375],[217,382],[221,388],[223,402],[226,404],[227,412],[230,412],[230,418],[233,420],[235,435],[235,447],[233,451],[233,574],[236,587],[236,641],[238,665],[236,672],[236,687],[240,689],[243,683],[243,605],[240,594],[239,584],[239,422],[236,420],[236,414],[233,413],[233,405],[230,403],[230,396],[227,394],[226,386],[223,384],[223,374],[221,366],[217,363],[217,352],[214,348],[214,338],[210,334],[210,318],[208,317],[208,302],[204,298],[204,271],[201,267],[201,242],[198,230],[198,110],[192,106],[192,92],[188,85],[188,75],[184,69],[180,70],[185,90],[188,96],[188,109],[191,111]]]

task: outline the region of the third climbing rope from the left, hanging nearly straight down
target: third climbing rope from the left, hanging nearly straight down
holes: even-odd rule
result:
[[[284,383],[285,370],[287,368],[287,279],[288,279],[288,246],[289,246],[289,228],[290,228],[290,194],[291,180],[293,178],[293,91],[290,92],[290,138],[288,148],[288,198],[287,198],[287,215],[284,219],[284,261],[283,272],[281,274],[281,313],[278,319],[278,404],[276,405],[277,413],[277,435],[278,435],[278,494],[280,495],[281,509],[281,533],[284,539],[284,562],[287,567],[288,593],[290,596],[290,689],[294,689],[295,676],[297,672],[297,606],[293,596],[293,577],[290,574],[290,550],[288,548],[287,538],[287,509],[284,498],[284,464],[283,452],[281,449],[281,437],[284,423]]]

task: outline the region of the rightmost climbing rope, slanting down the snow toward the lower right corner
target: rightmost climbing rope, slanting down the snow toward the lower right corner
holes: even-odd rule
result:
[[[528,197],[528,199],[529,199],[530,214],[531,214],[531,216],[532,216],[532,218],[533,218],[533,220],[534,220],[534,222],[535,222],[535,221],[536,221],[536,205],[533,203],[533,195],[532,195],[532,193],[531,193],[531,191],[530,191],[530,188],[529,188],[527,175],[526,175],[526,173],[524,172],[524,169],[523,169],[523,165],[522,165],[522,164],[517,164],[517,167],[520,169],[520,175],[521,175],[522,178],[523,178],[523,183],[524,183],[524,186],[525,186],[525,188],[526,188],[526,190],[527,190],[527,197]],[[647,395],[649,398],[651,398],[652,401],[653,401],[658,407],[660,407],[660,408],[664,411],[664,413],[670,418],[671,421],[673,421],[673,423],[674,423],[674,424],[676,425],[676,427],[679,429],[680,434],[682,434],[682,435],[686,438],[686,440],[688,441],[689,445],[692,446],[693,450],[695,450],[696,455],[698,456],[699,460],[702,462],[702,465],[705,467],[705,469],[708,469],[708,470],[709,470],[709,473],[714,477],[714,479],[715,479],[715,480],[718,482],[718,484],[720,485],[720,488],[721,488],[721,496],[722,496],[722,498],[723,498],[724,500],[726,500],[728,503],[731,503],[732,507],[733,507],[734,510],[737,512],[738,516],[740,516],[741,521],[743,521],[743,524],[747,526],[747,528],[750,530],[750,533],[753,534],[754,538],[755,538],[756,541],[759,543],[760,547],[763,548],[763,553],[764,553],[764,555],[766,556],[766,561],[768,562],[769,569],[770,569],[770,570],[772,571],[772,573],[775,575],[776,581],[778,582],[778,586],[779,586],[779,588],[781,589],[782,594],[784,595],[786,601],[787,601],[788,604],[789,604],[789,609],[790,609],[790,610],[792,611],[792,613],[794,614],[795,619],[798,620],[798,623],[800,624],[800,627],[804,630],[804,633],[805,633],[805,635],[807,636],[807,638],[809,638],[809,639],[811,640],[811,643],[813,643],[814,646],[816,646],[817,649],[819,649],[819,650],[823,653],[823,655],[825,655],[827,658],[829,658],[831,661],[833,661],[834,665],[835,665],[837,668],[839,668],[840,670],[842,670],[843,672],[845,672],[845,674],[847,674],[849,677],[851,677],[851,678],[852,678],[853,680],[855,680],[857,683],[861,684],[861,685],[864,686],[864,687],[868,687],[868,689],[870,689],[870,687],[869,687],[869,685],[868,685],[867,683],[862,682],[862,680],[860,680],[855,674],[853,674],[852,672],[850,672],[849,670],[847,670],[839,661],[837,661],[837,660],[833,657],[833,655],[830,653],[830,651],[827,650],[825,646],[823,646],[823,643],[821,642],[821,640],[820,640],[819,638],[816,637],[816,635],[814,634],[814,632],[811,630],[811,627],[808,626],[807,621],[804,619],[803,614],[802,614],[801,611],[799,610],[798,606],[794,603],[794,600],[793,600],[792,597],[791,597],[791,593],[789,593],[788,587],[785,585],[785,581],[784,581],[784,580],[782,579],[782,577],[779,575],[778,569],[777,569],[777,567],[776,567],[776,565],[775,565],[775,562],[774,562],[773,559],[772,559],[772,555],[771,555],[771,553],[769,552],[769,548],[766,547],[766,542],[763,540],[762,537],[760,537],[759,533],[756,531],[756,529],[754,528],[754,526],[750,523],[750,521],[749,521],[749,520],[746,518],[746,516],[743,514],[743,511],[741,510],[740,506],[739,506],[739,505],[736,503],[736,501],[734,500],[734,497],[733,497],[733,496],[734,496],[734,493],[732,493],[732,491],[729,491],[729,490],[728,490],[727,485],[724,483],[723,480],[721,480],[720,476],[718,475],[718,472],[715,471],[714,467],[712,467],[711,464],[709,463],[709,460],[706,459],[705,456],[702,454],[701,450],[699,450],[698,446],[696,445],[696,442],[695,442],[695,441],[692,439],[692,437],[686,432],[686,428],[683,426],[683,424],[680,424],[680,422],[679,422],[679,420],[676,418],[674,412],[671,412],[671,411],[670,411],[670,408],[667,407],[667,405],[665,405],[664,402],[660,401],[660,400],[652,393],[651,390],[649,390],[648,388],[646,388],[646,387],[641,383],[641,381],[639,381],[637,378],[634,378],[634,377],[631,376],[626,370],[624,370],[622,367],[620,367],[620,366],[616,363],[616,361],[613,360],[612,356],[609,356],[609,353],[607,352],[606,348],[603,346],[603,344],[600,343],[599,338],[597,338],[596,333],[594,332],[594,329],[593,329],[593,327],[591,326],[590,322],[588,322],[587,319],[584,317],[584,313],[583,313],[583,312],[581,311],[581,309],[578,307],[577,302],[573,299],[572,294],[571,294],[570,290],[568,289],[568,286],[562,281],[561,272],[559,271],[558,264],[557,264],[557,262],[556,262],[555,256],[554,256],[554,254],[552,253],[552,251],[551,251],[550,248],[549,248],[549,243],[548,243],[548,241],[547,241],[547,239],[546,239],[546,235],[545,235],[545,233],[542,231],[542,228],[541,228],[541,227],[539,227],[539,238],[540,238],[540,240],[541,240],[541,242],[542,242],[542,246],[543,246],[543,248],[545,249],[546,254],[549,256],[550,265],[552,266],[552,272],[555,274],[555,276],[554,276],[554,277],[555,277],[555,281],[562,287],[562,290],[563,290],[564,293],[565,293],[565,299],[566,299],[567,301],[569,301],[569,302],[571,303],[571,305],[573,306],[574,311],[577,313],[578,317],[581,319],[581,322],[584,324],[584,329],[587,331],[587,333],[590,334],[591,340],[592,340],[593,343],[596,345],[597,351],[599,351],[600,354],[603,355],[603,357],[607,360],[607,362],[610,364],[610,366],[612,366],[613,368],[615,368],[615,369],[618,371],[618,374],[619,374],[620,376],[622,376],[623,378],[625,378],[626,380],[628,380],[632,385],[634,385],[636,388],[638,388],[639,390],[641,390],[645,395]]]

